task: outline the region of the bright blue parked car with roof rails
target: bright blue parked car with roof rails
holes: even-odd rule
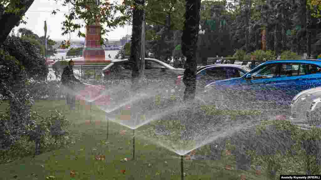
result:
[[[321,61],[289,59],[266,61],[240,78],[208,84],[209,87],[277,89],[293,98],[299,92],[321,85]],[[291,101],[291,99],[290,99]]]

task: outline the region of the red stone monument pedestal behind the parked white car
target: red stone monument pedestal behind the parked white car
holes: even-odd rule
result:
[[[82,51],[85,64],[110,62],[105,61],[105,51],[100,46],[100,38],[99,25],[86,26],[85,47]]]

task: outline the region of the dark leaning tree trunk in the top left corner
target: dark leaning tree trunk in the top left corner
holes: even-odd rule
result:
[[[17,1],[18,2],[18,1]],[[20,12],[17,14],[11,12],[11,13],[3,13],[3,11],[0,10],[0,24],[3,24],[5,26],[2,26],[1,28],[1,36],[0,36],[0,45],[3,44],[7,36],[10,34],[11,29],[14,28],[21,20],[24,13],[26,13],[31,6],[31,4],[34,2],[34,0],[25,0],[20,1],[19,4],[15,3],[15,7],[21,9]],[[10,2],[14,3],[14,2]]]

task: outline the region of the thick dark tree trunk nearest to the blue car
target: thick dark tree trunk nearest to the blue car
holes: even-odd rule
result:
[[[185,22],[182,36],[182,53],[187,58],[183,82],[184,101],[193,100],[196,90],[196,50],[200,21],[201,0],[186,0]]]

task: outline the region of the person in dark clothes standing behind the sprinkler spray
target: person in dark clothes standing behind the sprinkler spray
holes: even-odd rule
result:
[[[75,110],[76,107],[76,97],[72,92],[75,90],[77,83],[80,83],[80,80],[74,76],[74,61],[70,60],[68,66],[64,68],[64,71],[61,76],[61,83],[65,86],[67,90],[66,94],[66,103],[70,105],[71,110]]]

